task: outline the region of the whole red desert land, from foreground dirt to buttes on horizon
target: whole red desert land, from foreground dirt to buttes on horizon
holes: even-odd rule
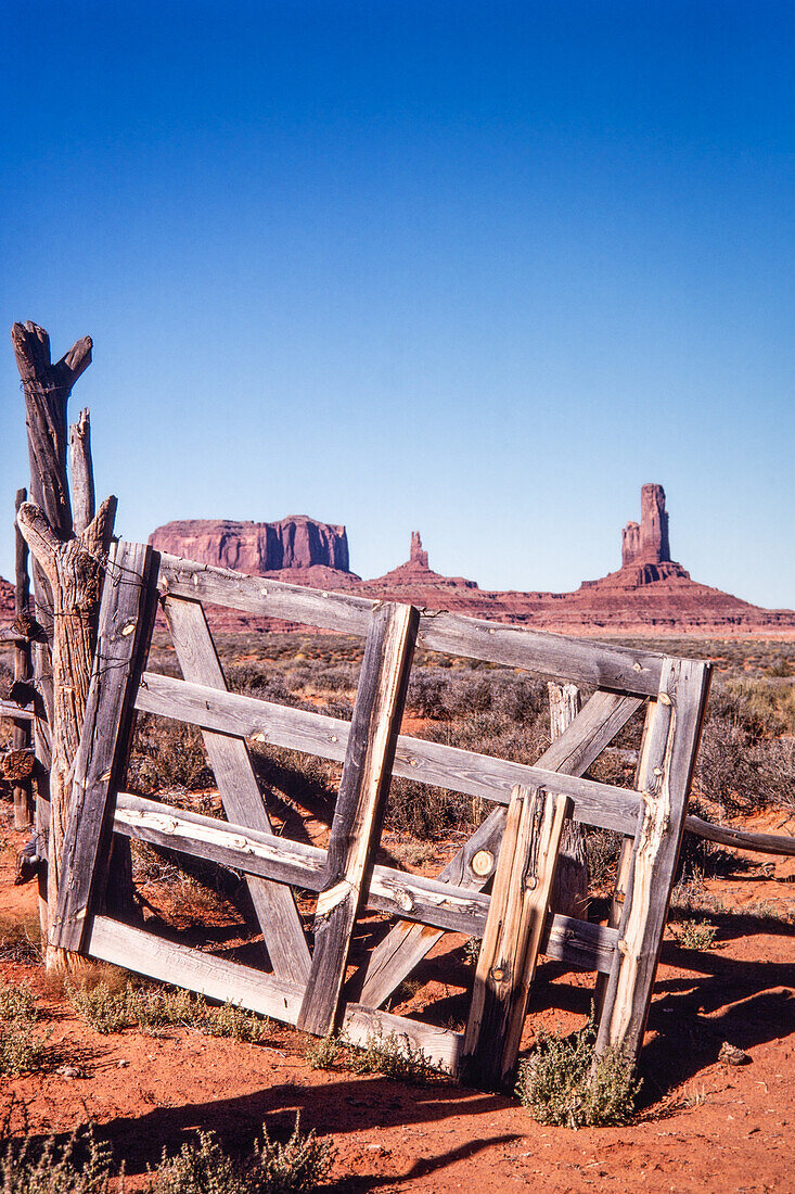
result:
[[[418,533],[405,564],[363,580],[350,571],[345,528],[308,517],[170,522],[150,542],[294,584],[709,658],[715,682],[694,807],[735,827],[795,835],[795,613],[759,609],[692,580],[671,559],[660,485],[642,488],[640,521],[622,531],[621,567],[571,593],[488,592],[474,580],[439,576]],[[7,626],[10,585],[0,587],[0,598]],[[350,712],[360,658],[352,640],[220,611],[211,624],[232,688],[338,716]],[[175,669],[165,628],[155,632],[150,666]],[[486,753],[513,744],[519,755],[537,755],[548,743],[538,691],[523,688],[517,702],[516,677],[503,671],[450,667],[427,653],[418,658],[420,682],[409,690],[406,732],[466,741]],[[6,654],[4,684],[10,675]],[[631,783],[637,745],[635,727],[609,761],[610,782]],[[266,749],[255,753],[255,764],[279,831],[322,845],[339,769],[313,769],[291,752]],[[218,808],[198,738],[161,728],[148,715],[138,724],[128,786],[195,811]],[[456,799],[466,807],[454,807],[444,793],[429,796],[409,787],[390,795],[382,861],[432,876],[482,810],[464,798]],[[4,991],[7,998],[17,985],[27,987],[30,1033],[38,1041],[35,1061],[0,1075],[0,1110],[13,1103],[19,1116],[25,1108],[33,1133],[60,1138],[91,1121],[97,1137],[110,1143],[113,1173],[124,1162],[128,1190],[148,1188],[147,1170],[158,1167],[164,1149],[173,1156],[198,1130],[215,1132],[234,1156],[251,1146],[263,1122],[273,1139],[285,1140],[296,1112],[303,1130],[314,1128],[335,1150],[318,1188],[350,1194],[795,1189],[794,857],[685,838],[635,1112],[620,1126],[573,1130],[540,1122],[510,1093],[466,1089],[421,1066],[398,1076],[377,1066],[368,1072],[351,1051],[323,1053],[314,1038],[254,1017],[236,1020],[230,1009],[184,1004],[180,1014],[147,1018],[130,1010],[129,992],[138,992],[141,1005],[160,996],[107,967],[90,968],[72,985],[49,974],[37,938],[36,884],[14,881],[27,833],[13,829],[7,799],[0,814],[0,1004]],[[615,878],[616,843],[608,837],[588,847],[593,921],[606,915]],[[234,876],[214,886],[178,863],[146,848],[135,856],[138,917],[223,956],[252,958],[258,941]],[[300,906],[310,925],[310,901],[301,897]],[[357,947],[378,925],[376,915],[363,917]],[[399,989],[392,1010],[461,1027],[472,960],[473,942],[446,934]],[[106,995],[100,999],[98,991]],[[523,1039],[526,1054],[544,1033],[580,1029],[592,993],[593,974],[542,962]],[[116,1010],[115,1020],[103,1021],[103,1007]],[[113,1177],[111,1187],[117,1186]],[[179,1187],[199,1188],[205,1187]]]

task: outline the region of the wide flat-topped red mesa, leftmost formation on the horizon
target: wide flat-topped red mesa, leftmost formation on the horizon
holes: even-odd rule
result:
[[[272,523],[181,519],[158,527],[149,543],[159,552],[252,576],[316,567],[353,576],[345,528],[306,515]]]

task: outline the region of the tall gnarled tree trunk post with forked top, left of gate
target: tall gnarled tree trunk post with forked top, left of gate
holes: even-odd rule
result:
[[[49,830],[47,903],[55,909],[58,861],[68,818],[72,764],[76,751],[97,641],[104,559],[113,530],[116,499],[93,515],[87,412],[73,432],[79,537],[74,537],[67,476],[67,405],[72,387],[91,364],[91,337],[53,363],[50,338],[36,324],[14,324],[12,340],[25,394],[31,503],[18,525],[33,555],[36,618],[33,675],[47,719],[35,724],[36,753],[50,771],[50,800],[37,800],[36,825]],[[39,796],[43,793],[39,789]],[[41,892],[41,885],[39,885]],[[44,937],[47,941],[47,936]],[[47,950],[48,967],[66,968],[62,950]]]

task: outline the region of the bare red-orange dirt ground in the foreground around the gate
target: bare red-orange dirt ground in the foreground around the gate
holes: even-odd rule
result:
[[[775,821],[781,825],[782,817]],[[765,827],[772,827],[770,819]],[[36,897],[32,885],[12,886],[12,848],[21,835],[8,830],[5,836],[0,898],[7,922],[33,911]],[[0,1107],[16,1094],[29,1104],[33,1126],[47,1131],[91,1118],[117,1159],[125,1158],[128,1190],[140,1189],[147,1164],[156,1164],[164,1145],[177,1151],[197,1127],[211,1127],[228,1145],[244,1147],[264,1120],[279,1134],[297,1109],[306,1128],[334,1138],[334,1189],[350,1194],[491,1194],[497,1184],[540,1192],[791,1190],[794,930],[769,913],[791,915],[794,880],[790,858],[776,860],[772,874],[754,863],[705,884],[733,910],[719,917],[708,950],[684,949],[676,941],[677,925],[667,930],[642,1063],[643,1106],[629,1127],[543,1127],[504,1096],[315,1071],[304,1058],[309,1039],[281,1026],[260,1045],[191,1029],[100,1036],[54,993],[41,966],[12,962],[0,966],[0,975],[29,983],[39,997],[51,1029],[51,1061],[43,1075],[5,1082]],[[451,944],[455,938],[443,938],[442,959]],[[470,975],[457,960],[430,959],[418,975],[425,985],[400,1010],[418,1013],[429,1003],[439,1022],[460,1020],[466,1014],[460,992]],[[578,1027],[590,986],[591,975],[542,967],[532,1027]],[[720,1063],[725,1040],[747,1051],[750,1063]],[[60,1075],[64,1061],[84,1076]]]

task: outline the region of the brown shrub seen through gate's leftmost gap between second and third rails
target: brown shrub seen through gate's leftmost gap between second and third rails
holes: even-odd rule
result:
[[[144,794],[168,788],[187,790],[212,784],[202,736],[196,726],[138,714],[128,784]]]

